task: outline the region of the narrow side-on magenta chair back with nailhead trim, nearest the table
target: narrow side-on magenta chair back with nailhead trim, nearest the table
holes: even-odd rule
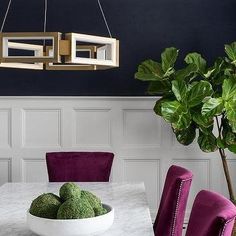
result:
[[[153,226],[155,236],[181,236],[193,174],[179,166],[167,172],[161,202]]]

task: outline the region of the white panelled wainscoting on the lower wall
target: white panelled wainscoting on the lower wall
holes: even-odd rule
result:
[[[48,151],[111,151],[112,181],[144,181],[155,217],[168,167],[194,172],[187,217],[200,189],[227,196],[217,153],[178,144],[153,112],[154,97],[0,97],[0,184],[47,181]],[[236,159],[230,156],[235,177]],[[235,178],[234,178],[235,179]]]

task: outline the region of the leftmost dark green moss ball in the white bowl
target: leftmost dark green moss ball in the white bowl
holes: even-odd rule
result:
[[[61,200],[57,195],[44,193],[32,201],[29,212],[34,216],[56,219],[60,206]]]

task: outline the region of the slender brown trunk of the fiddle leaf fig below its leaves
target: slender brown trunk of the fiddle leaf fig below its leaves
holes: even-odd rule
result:
[[[222,139],[222,137],[221,137],[222,122],[221,122],[221,126],[220,126],[217,116],[216,116],[216,124],[217,124],[218,132],[219,132],[219,137],[220,137],[220,139]],[[228,191],[229,191],[229,197],[230,197],[230,200],[234,203],[235,202],[234,190],[233,190],[232,181],[231,181],[231,177],[230,177],[230,173],[229,173],[228,163],[226,160],[225,150],[223,148],[219,148],[218,150],[219,150],[221,161],[223,164],[225,179],[226,179],[227,187],[228,187]]]

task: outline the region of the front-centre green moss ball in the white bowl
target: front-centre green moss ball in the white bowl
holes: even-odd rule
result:
[[[95,213],[86,199],[71,198],[65,201],[57,212],[57,219],[83,219],[94,217]]]

